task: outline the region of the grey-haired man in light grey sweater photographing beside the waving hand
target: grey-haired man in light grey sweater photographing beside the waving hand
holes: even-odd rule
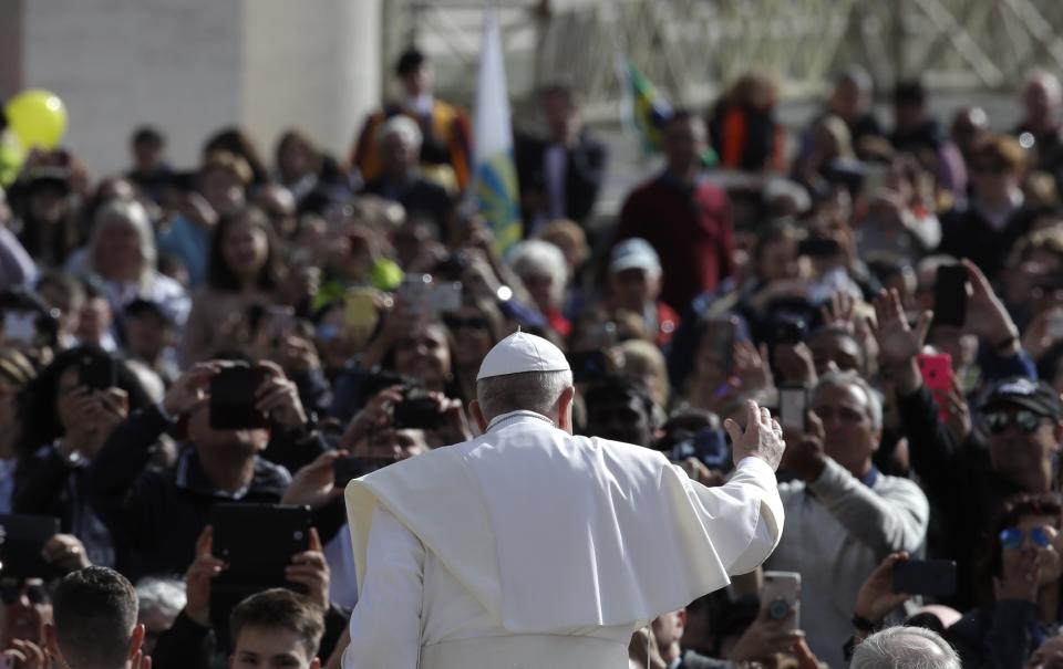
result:
[[[812,651],[843,667],[852,604],[864,579],[890,553],[918,553],[929,503],[908,479],[871,460],[883,436],[883,403],[855,372],[819,378],[803,436],[792,436],[780,485],[789,531],[767,568],[799,572],[802,626]]]

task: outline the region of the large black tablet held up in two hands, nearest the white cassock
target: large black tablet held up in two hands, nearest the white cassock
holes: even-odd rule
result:
[[[285,569],[310,548],[310,508],[280,504],[217,504],[210,511],[214,555],[227,567],[210,584],[210,623],[228,640],[229,614],[237,604],[275,587],[297,593]]]

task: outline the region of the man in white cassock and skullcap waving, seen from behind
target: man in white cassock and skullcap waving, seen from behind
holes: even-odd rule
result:
[[[623,669],[633,630],[758,566],[783,531],[782,430],[750,403],[706,488],[657,451],[574,437],[565,355],[484,358],[483,436],[352,481],[359,600],[345,669]]]

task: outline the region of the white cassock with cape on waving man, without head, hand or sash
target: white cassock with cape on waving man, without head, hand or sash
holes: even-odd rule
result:
[[[588,454],[598,481],[580,468]],[[774,473],[754,458],[740,462],[727,485],[708,489],[656,451],[571,437],[541,418],[516,415],[496,420],[479,439],[381,472],[396,474],[396,468],[419,461],[434,472],[431,479],[390,475],[398,481],[399,496],[386,499],[390,492],[379,489],[378,503],[370,502],[368,512],[363,502],[372,498],[358,494],[364,484],[380,483],[369,477],[348,489],[352,535],[367,536],[344,669],[414,669],[422,647],[525,634],[589,637],[626,648],[646,620],[681,608],[715,589],[713,584],[720,587],[729,573],[755,568],[782,531]],[[471,478],[463,480],[462,464],[448,463],[457,461]],[[626,469],[619,470],[618,463]],[[545,475],[540,467],[553,468],[554,474]],[[628,474],[640,467],[648,475]],[[576,480],[568,477],[572,470],[587,479],[581,490],[569,489]],[[677,503],[675,496],[669,498],[671,484],[659,489],[661,479],[678,483],[693,511],[678,510],[677,516],[696,515],[702,524],[694,534],[700,537],[688,533],[683,521],[669,526],[669,514],[659,515]],[[424,491],[425,485],[438,489]],[[613,494],[596,493],[602,489]],[[466,498],[451,496],[454,490]],[[422,512],[420,506],[411,511],[412,504],[404,503],[422,492],[427,500],[438,500],[423,511],[430,521],[424,526],[419,523],[425,519],[411,518]],[[658,504],[654,496],[669,499]],[[450,500],[458,506],[475,501],[457,509],[448,523],[443,508]],[[729,505],[735,500],[750,506],[752,515]],[[477,512],[476,504],[486,509]],[[483,516],[473,518],[477,513]],[[469,522],[462,523],[462,518]],[[446,545],[451,537],[456,545]],[[699,539],[704,544],[696,545]],[[355,541],[355,561],[359,545]],[[685,555],[684,546],[698,554]],[[708,566],[699,562],[706,554],[714,558]],[[698,573],[682,574],[684,565],[696,565],[691,571]],[[719,576],[710,574],[713,565],[722,569],[722,582],[702,581]],[[671,599],[654,600],[667,593]]]

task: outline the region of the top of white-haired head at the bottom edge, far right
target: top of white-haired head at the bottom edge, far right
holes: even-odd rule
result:
[[[941,635],[922,627],[888,627],[864,639],[849,669],[961,669]]]

